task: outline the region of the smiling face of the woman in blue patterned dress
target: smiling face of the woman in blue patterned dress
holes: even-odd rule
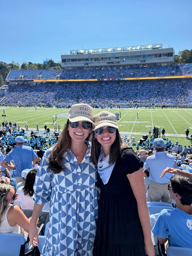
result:
[[[92,131],[92,128],[84,129],[82,127],[82,121],[79,121],[79,125],[76,128],[72,128],[68,122],[68,131],[72,142],[84,142]]]

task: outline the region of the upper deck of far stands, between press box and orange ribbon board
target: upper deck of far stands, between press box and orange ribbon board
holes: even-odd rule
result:
[[[160,79],[165,77],[184,78],[192,76],[192,64],[167,66],[122,66],[110,68],[74,68],[63,70],[10,70],[6,82],[65,82],[72,80],[134,80]]]

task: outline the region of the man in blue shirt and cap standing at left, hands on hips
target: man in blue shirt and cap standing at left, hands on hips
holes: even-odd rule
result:
[[[18,182],[22,181],[21,173],[22,170],[29,168],[32,169],[36,162],[39,161],[37,155],[31,147],[24,146],[24,137],[17,136],[16,139],[16,148],[11,150],[2,160],[1,166],[5,168],[15,170],[16,176],[16,185]],[[11,160],[14,162],[14,166],[8,164]],[[32,163],[33,162],[33,163]]]

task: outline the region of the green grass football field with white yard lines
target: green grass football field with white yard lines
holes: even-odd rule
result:
[[[46,124],[50,129],[53,129],[52,116],[55,117],[57,114],[57,124],[60,123],[61,128],[64,128],[66,123],[66,118],[68,116],[68,109],[58,109],[58,108],[10,108],[1,107],[0,114],[3,114],[3,109],[5,109],[5,121],[16,122],[20,124],[21,128],[24,128],[25,123],[28,123],[29,130],[36,128],[36,123],[38,122],[39,128],[44,130],[44,125]],[[94,110],[94,114],[100,112],[101,109]],[[154,126],[158,128],[164,128],[166,131],[165,136],[168,137],[172,142],[178,140],[179,144],[183,146],[188,146],[190,139],[186,139],[185,130],[188,128],[190,130],[189,137],[192,134],[192,109],[124,109],[117,110],[111,109],[110,112],[121,112],[121,118],[117,120],[119,130],[122,135],[130,134],[134,136],[137,140],[142,138],[142,134],[148,134],[148,128],[153,128]],[[138,118],[137,119],[137,112]],[[0,122],[4,120],[1,116]],[[135,149],[135,147],[133,146]]]

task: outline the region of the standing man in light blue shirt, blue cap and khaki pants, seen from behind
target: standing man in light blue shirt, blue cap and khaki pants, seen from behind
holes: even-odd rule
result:
[[[145,163],[145,168],[150,173],[147,200],[172,203],[167,189],[172,174],[166,173],[162,178],[160,175],[166,167],[174,167],[175,159],[174,156],[164,151],[165,144],[162,138],[154,140],[154,148],[156,154],[149,156]]]

